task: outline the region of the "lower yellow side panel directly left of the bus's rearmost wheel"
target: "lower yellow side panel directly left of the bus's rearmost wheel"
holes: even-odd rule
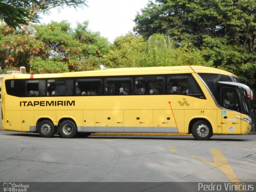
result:
[[[25,132],[36,131],[36,125],[34,124],[34,111],[22,111],[21,112],[21,128]]]

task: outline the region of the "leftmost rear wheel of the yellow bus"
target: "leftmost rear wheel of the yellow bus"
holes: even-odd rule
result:
[[[41,137],[50,138],[56,133],[56,128],[50,120],[42,120],[38,124],[38,133]]]

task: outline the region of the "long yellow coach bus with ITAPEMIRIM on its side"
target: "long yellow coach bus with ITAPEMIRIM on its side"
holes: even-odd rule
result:
[[[213,134],[250,132],[250,88],[204,66],[117,68],[8,76],[2,126],[63,138],[96,132]]]

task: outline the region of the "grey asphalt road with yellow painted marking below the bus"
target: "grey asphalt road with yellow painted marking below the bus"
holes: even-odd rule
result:
[[[0,182],[254,182],[256,135],[90,136],[0,131]]]

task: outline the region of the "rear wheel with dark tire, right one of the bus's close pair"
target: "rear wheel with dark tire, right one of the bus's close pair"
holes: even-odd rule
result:
[[[72,120],[64,120],[60,123],[58,132],[63,138],[73,138],[77,134],[76,124]]]

